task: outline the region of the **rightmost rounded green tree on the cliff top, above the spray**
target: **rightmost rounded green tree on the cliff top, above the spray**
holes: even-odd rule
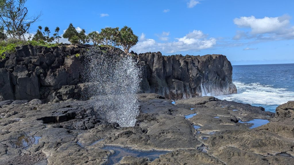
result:
[[[124,50],[125,53],[129,53],[130,48],[135,46],[138,42],[138,36],[133,33],[133,30],[128,26],[124,26],[121,28],[120,32],[120,40],[119,40],[119,48]]]

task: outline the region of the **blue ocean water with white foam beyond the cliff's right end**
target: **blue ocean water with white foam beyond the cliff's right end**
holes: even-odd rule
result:
[[[237,94],[216,97],[275,112],[278,105],[294,100],[294,64],[233,65],[233,83]]]

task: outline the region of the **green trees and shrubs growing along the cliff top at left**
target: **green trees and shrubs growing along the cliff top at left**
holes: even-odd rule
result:
[[[77,31],[72,23],[66,29],[62,37],[59,34],[60,28],[57,26],[53,35],[49,27],[38,26],[34,35],[30,34],[31,25],[39,20],[41,13],[30,17],[28,10],[24,6],[26,0],[0,0],[0,59],[5,58],[5,53],[13,53],[16,46],[31,44],[33,46],[58,46],[60,39],[67,38],[71,44],[100,45],[113,51],[120,48],[128,53],[130,48],[138,42],[138,36],[133,30],[124,26],[116,28],[102,28],[101,32],[92,31],[86,34],[85,29]]]

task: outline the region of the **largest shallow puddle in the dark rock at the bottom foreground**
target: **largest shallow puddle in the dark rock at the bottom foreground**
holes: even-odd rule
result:
[[[133,156],[133,157],[147,157],[148,159],[156,159],[159,155],[166,154],[168,151],[136,151],[127,148],[121,147],[104,147],[102,149],[113,150],[115,153],[109,157],[108,164],[116,164],[121,161],[124,156]]]

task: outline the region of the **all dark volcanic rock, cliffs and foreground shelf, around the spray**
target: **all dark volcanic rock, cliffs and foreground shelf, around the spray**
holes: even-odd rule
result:
[[[0,61],[0,164],[293,164],[294,101],[272,113],[201,97],[236,92],[225,56],[132,52],[140,113],[120,127],[83,97],[87,48],[28,45]]]

